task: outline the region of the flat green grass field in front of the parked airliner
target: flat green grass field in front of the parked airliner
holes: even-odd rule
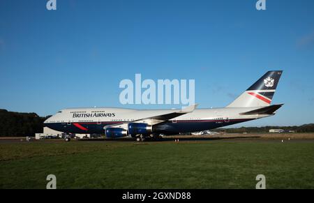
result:
[[[314,188],[314,142],[0,144],[0,188]]]

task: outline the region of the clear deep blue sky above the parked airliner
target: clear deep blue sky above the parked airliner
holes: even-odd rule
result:
[[[284,70],[276,116],[314,122],[314,1],[0,0],[0,108],[54,114],[121,105],[119,82],[194,79],[199,107],[223,107],[267,70]]]

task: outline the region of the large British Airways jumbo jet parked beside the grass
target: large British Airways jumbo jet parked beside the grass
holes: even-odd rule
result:
[[[276,114],[283,104],[271,105],[271,100],[282,73],[282,70],[268,71],[226,107],[196,109],[197,104],[193,104],[179,110],[68,108],[48,118],[44,126],[64,133],[136,137],[138,142],[158,135],[230,126]]]

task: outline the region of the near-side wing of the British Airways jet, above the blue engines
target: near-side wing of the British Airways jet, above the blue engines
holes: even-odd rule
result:
[[[147,123],[148,125],[153,126],[158,123],[163,123],[170,119],[176,118],[177,116],[181,116],[183,114],[193,112],[195,108],[197,107],[197,105],[198,104],[190,105],[188,107],[182,108],[181,110],[173,110],[173,111],[168,112],[167,114],[159,114],[156,116],[150,116],[150,117],[138,119],[135,121],[126,121],[124,123],[105,126],[105,128],[127,128],[128,123]]]

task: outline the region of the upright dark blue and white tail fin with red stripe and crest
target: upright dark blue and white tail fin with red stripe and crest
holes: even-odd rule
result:
[[[282,70],[268,71],[227,107],[269,106],[282,73]]]

